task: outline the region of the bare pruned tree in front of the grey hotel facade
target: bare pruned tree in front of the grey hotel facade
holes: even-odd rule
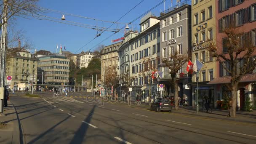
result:
[[[174,51],[169,59],[163,59],[163,67],[169,68],[169,74],[171,75],[171,84],[174,87],[175,110],[179,109],[179,78],[177,77],[177,75],[179,73],[179,70],[183,67],[184,64],[187,63],[187,61],[188,57],[184,54],[179,54],[178,51]]]

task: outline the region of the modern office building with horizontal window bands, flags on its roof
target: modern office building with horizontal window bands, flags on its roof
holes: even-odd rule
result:
[[[63,54],[39,57],[37,66],[38,83],[43,83],[48,88],[55,88],[63,83],[69,85],[69,59]],[[43,82],[42,82],[43,75]],[[51,86],[53,85],[53,86]]]

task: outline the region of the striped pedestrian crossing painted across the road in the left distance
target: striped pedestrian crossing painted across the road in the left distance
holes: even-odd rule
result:
[[[56,103],[75,103],[75,104],[84,104],[82,101],[77,101],[71,97],[66,96],[52,96],[52,97],[45,97],[43,98],[49,104],[56,104]]]

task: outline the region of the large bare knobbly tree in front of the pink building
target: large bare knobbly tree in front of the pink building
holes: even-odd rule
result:
[[[238,83],[243,75],[251,73],[256,68],[255,45],[250,33],[240,33],[241,29],[232,23],[223,29],[226,38],[223,41],[223,50],[216,43],[209,42],[208,51],[219,61],[229,73],[231,91],[229,116],[235,117],[237,107]],[[222,42],[221,42],[222,44]]]

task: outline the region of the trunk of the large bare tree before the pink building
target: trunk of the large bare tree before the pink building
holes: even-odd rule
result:
[[[229,109],[229,117],[235,117],[236,115],[236,109],[237,109],[237,87],[238,83],[231,82],[231,98],[232,98],[232,104],[230,104],[230,109]]]

